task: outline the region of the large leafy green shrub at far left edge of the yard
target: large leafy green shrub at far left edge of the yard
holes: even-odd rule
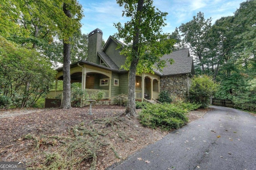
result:
[[[31,107],[54,81],[51,63],[35,50],[0,36],[0,96],[2,107]]]

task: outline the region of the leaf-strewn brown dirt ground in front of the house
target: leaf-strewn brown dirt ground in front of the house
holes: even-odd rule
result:
[[[24,161],[27,169],[105,169],[168,132],[123,115],[124,107],[0,110],[0,160]],[[139,110],[138,110],[139,111]],[[189,122],[206,110],[191,111]]]

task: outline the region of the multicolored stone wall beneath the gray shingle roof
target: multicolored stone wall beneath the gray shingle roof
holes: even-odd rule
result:
[[[160,79],[160,92],[168,91],[170,96],[186,100],[191,79],[188,75],[163,76]]]

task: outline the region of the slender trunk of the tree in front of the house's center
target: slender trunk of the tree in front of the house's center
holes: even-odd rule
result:
[[[128,83],[128,102],[126,107],[126,116],[134,117],[136,115],[135,107],[135,81],[136,81],[136,67],[138,64],[139,57],[139,35],[140,35],[140,22],[141,22],[141,11],[143,8],[144,0],[138,0],[137,14],[134,30],[135,35],[132,42],[132,62],[129,70],[129,83]]]

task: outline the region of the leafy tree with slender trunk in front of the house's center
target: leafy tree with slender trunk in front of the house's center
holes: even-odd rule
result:
[[[174,40],[167,39],[168,35],[162,33],[167,13],[155,8],[153,0],[117,0],[117,3],[124,6],[123,16],[131,19],[124,26],[120,22],[114,24],[118,29],[114,37],[124,39],[126,44],[121,52],[126,56],[124,68],[129,70],[125,112],[127,116],[135,116],[136,73],[153,72],[156,67],[163,68],[166,61],[160,58],[172,51]]]

